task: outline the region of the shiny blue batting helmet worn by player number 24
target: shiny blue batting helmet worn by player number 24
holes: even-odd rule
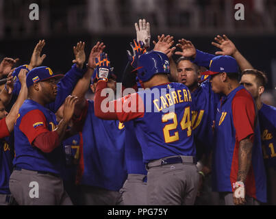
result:
[[[138,60],[138,79],[145,82],[157,74],[169,74],[170,62],[165,53],[149,51],[142,54]]]

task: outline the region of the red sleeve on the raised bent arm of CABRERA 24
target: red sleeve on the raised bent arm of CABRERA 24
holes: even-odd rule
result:
[[[106,102],[106,96],[101,91],[107,88],[106,81],[99,81],[95,93],[95,115],[105,120],[119,120],[127,122],[144,116],[144,103],[139,94],[129,94],[116,101]]]

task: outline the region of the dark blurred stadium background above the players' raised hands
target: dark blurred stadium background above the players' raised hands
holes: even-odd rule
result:
[[[43,53],[47,58],[44,65],[55,73],[66,73],[71,68],[73,46],[80,40],[86,42],[88,56],[99,40],[107,46],[105,52],[110,55],[120,80],[127,63],[129,42],[136,38],[134,23],[139,18],[146,18],[151,23],[151,40],[156,40],[158,34],[170,34],[175,40],[191,40],[197,49],[209,53],[218,51],[211,44],[214,36],[227,34],[242,55],[268,75],[267,90],[274,95],[276,66],[272,66],[273,60],[276,62],[276,1],[257,1],[2,0],[0,57],[19,57],[18,65],[28,64],[38,40],[45,39]],[[29,20],[31,3],[39,5],[39,21]],[[234,19],[236,3],[244,4],[244,21]],[[198,18],[197,25],[194,18]]]

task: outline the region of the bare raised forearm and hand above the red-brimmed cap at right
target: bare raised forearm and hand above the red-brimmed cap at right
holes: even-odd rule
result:
[[[212,45],[221,49],[221,51],[217,51],[216,55],[231,55],[233,56],[237,62],[238,66],[240,66],[240,70],[245,69],[253,69],[253,66],[247,61],[247,59],[238,51],[235,44],[227,38],[224,34],[222,36],[216,36],[214,38],[216,42],[212,42]]]

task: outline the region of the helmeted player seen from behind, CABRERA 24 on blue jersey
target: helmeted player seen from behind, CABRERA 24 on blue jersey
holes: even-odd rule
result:
[[[183,84],[169,83],[167,55],[158,51],[141,55],[138,78],[149,89],[110,101],[105,106],[101,105],[105,99],[101,92],[107,86],[108,58],[102,55],[99,63],[95,114],[108,120],[134,120],[148,170],[147,204],[192,205],[199,182],[191,122],[192,97]]]

